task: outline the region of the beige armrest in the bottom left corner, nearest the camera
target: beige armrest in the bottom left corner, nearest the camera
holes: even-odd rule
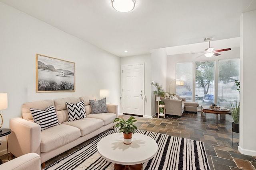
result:
[[[40,156],[28,153],[0,165],[1,170],[41,170]]]

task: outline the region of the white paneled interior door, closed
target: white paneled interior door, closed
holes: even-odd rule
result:
[[[122,66],[123,113],[144,115],[144,65]]]

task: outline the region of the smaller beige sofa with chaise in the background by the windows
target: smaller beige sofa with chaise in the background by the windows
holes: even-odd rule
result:
[[[185,98],[175,95],[176,98],[162,99],[165,105],[165,113],[181,117],[184,111],[197,112],[199,104],[197,102],[186,102]]]

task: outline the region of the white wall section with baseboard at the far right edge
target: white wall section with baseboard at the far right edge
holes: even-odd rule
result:
[[[256,156],[256,10],[241,16],[240,136],[238,150]]]

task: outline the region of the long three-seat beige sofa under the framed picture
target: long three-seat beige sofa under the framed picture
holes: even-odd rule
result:
[[[68,121],[66,103],[76,104],[84,101],[86,118]],[[62,98],[28,102],[22,106],[22,118],[10,119],[9,150],[16,157],[35,152],[44,162],[69,150],[80,143],[112,128],[118,115],[118,106],[107,104],[108,113],[91,114],[89,100],[94,97]],[[30,108],[44,110],[53,105],[60,125],[41,131],[40,125],[34,123]]]

